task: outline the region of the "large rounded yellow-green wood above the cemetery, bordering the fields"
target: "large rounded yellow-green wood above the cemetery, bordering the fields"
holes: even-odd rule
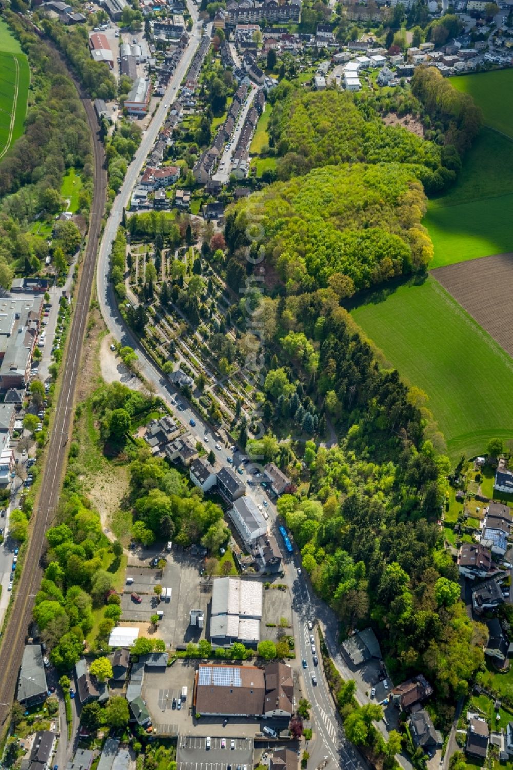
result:
[[[230,252],[259,223],[267,258],[287,293],[330,284],[340,296],[423,272],[432,256],[421,225],[425,196],[414,166],[325,166],[277,182],[226,213]]]

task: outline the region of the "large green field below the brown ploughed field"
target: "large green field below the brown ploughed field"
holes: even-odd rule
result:
[[[352,311],[411,385],[428,394],[452,459],[513,437],[513,361],[432,278]]]

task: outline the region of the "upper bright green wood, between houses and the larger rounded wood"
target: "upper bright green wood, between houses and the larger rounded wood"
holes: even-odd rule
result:
[[[280,156],[278,179],[344,162],[399,162],[411,165],[428,193],[454,181],[440,146],[401,126],[385,126],[373,110],[359,109],[349,92],[307,92],[287,82],[280,89],[269,124],[270,144]]]

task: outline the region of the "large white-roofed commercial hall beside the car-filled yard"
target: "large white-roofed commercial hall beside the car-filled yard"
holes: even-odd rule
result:
[[[216,577],[213,581],[210,639],[214,644],[258,644],[263,587],[257,580]]]

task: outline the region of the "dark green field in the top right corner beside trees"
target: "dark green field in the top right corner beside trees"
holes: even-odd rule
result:
[[[455,89],[471,95],[481,107],[485,124],[513,139],[513,70],[476,72],[451,78]]]

